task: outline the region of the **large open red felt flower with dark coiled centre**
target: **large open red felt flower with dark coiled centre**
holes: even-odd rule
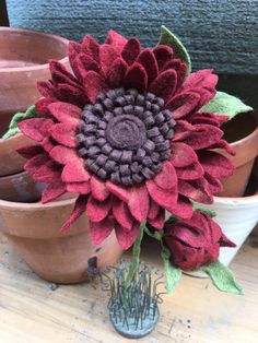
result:
[[[201,107],[215,94],[216,75],[202,70],[186,79],[187,66],[161,45],[143,49],[110,31],[105,44],[91,36],[71,42],[70,73],[50,62],[51,80],[39,82],[38,115],[20,123],[38,142],[20,150],[25,169],[47,184],[43,202],[79,194],[64,230],[84,211],[99,244],[115,228],[124,248],[140,223],[156,228],[165,210],[192,215],[190,199],[211,203],[219,178],[232,164],[210,149],[230,150],[222,121]]]

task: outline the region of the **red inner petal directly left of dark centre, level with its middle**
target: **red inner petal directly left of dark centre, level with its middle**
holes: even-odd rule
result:
[[[60,122],[51,126],[49,133],[51,138],[59,144],[68,147],[78,146],[74,128],[70,128],[67,125]]]

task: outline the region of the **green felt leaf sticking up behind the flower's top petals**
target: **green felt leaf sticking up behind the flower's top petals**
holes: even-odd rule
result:
[[[185,48],[180,39],[164,25],[162,25],[161,27],[161,38],[159,45],[161,44],[171,46],[174,50],[174,57],[179,58],[183,62],[186,62],[188,64],[187,73],[189,74],[191,72],[191,59],[189,54],[187,52],[187,49]]]

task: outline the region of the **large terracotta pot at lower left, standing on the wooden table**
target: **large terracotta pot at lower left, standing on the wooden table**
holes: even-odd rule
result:
[[[96,261],[97,269],[105,269],[115,265],[122,253],[114,233],[99,246],[91,243],[86,215],[60,234],[73,205],[74,198],[46,205],[0,200],[1,232],[32,270],[50,282],[86,281],[89,264]]]

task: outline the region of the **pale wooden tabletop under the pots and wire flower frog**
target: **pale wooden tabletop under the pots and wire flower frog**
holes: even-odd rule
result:
[[[249,238],[231,265],[245,296],[221,293],[208,279],[184,275],[174,295],[164,296],[155,330],[137,341],[114,331],[108,294],[96,282],[56,287],[35,275],[0,234],[0,343],[257,343],[257,247],[258,238]],[[162,269],[155,248],[145,241],[142,259]]]

